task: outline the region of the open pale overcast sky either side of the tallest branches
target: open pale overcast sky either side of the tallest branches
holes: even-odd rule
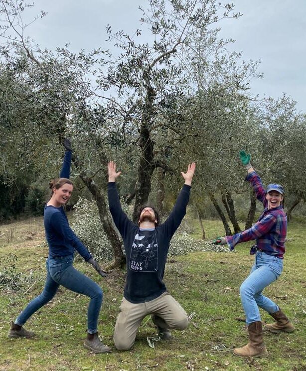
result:
[[[220,0],[222,3],[223,1]],[[261,60],[263,79],[251,81],[251,92],[273,98],[291,95],[306,112],[306,0],[232,0],[243,16],[222,22],[224,38],[234,38],[232,50],[244,60]],[[110,44],[105,26],[128,32],[142,28],[138,5],[146,0],[34,0],[35,13],[48,14],[33,23],[27,34],[41,47],[54,49],[69,43],[72,51]],[[31,13],[33,9],[31,9]]]

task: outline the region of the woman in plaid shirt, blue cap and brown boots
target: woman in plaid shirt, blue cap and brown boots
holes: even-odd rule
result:
[[[251,249],[251,254],[256,253],[254,265],[250,275],[240,286],[249,343],[245,347],[236,348],[234,354],[240,357],[266,357],[268,352],[263,342],[259,307],[277,321],[266,325],[269,331],[280,333],[281,331],[292,332],[295,329],[281,309],[262,294],[264,288],[277,280],[283,271],[287,233],[287,216],[282,205],[285,192],[278,184],[270,184],[265,189],[250,164],[251,156],[240,151],[239,157],[248,172],[246,180],[253,186],[257,199],[263,203],[265,209],[251,228],[233,236],[217,237],[217,243],[227,244],[230,250],[233,250],[237,243],[256,239],[256,245]]]

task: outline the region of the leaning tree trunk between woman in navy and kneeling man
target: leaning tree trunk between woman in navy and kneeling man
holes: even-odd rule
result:
[[[108,216],[108,210],[107,210],[107,206],[105,202],[105,197],[91,178],[86,177],[84,175],[80,175],[79,177],[84,182],[84,184],[88,187],[88,189],[90,190],[90,192],[92,193],[92,195],[94,196],[97,202],[99,215],[100,215],[103,228],[114,250],[114,262],[110,264],[107,268],[109,269],[115,268],[115,267],[121,268],[125,264],[126,259],[122,251],[122,244],[120,242],[120,239],[113,226],[112,220]]]

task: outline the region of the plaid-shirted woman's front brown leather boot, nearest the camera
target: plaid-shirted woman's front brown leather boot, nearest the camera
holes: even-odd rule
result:
[[[263,341],[263,325],[261,321],[252,322],[248,326],[249,343],[242,348],[235,348],[238,357],[267,357],[268,352]]]

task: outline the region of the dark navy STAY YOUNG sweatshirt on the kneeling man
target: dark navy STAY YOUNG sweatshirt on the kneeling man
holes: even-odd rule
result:
[[[183,185],[164,223],[153,229],[141,229],[122,210],[115,182],[108,184],[110,211],[123,238],[126,252],[124,297],[129,302],[144,303],[166,291],[162,279],[170,239],[186,214],[190,188],[190,185]]]

